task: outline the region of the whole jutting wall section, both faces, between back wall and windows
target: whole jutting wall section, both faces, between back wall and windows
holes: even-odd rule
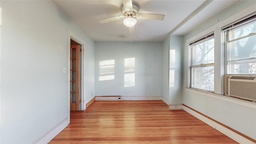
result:
[[[182,104],[183,37],[170,35],[163,41],[163,100]]]

